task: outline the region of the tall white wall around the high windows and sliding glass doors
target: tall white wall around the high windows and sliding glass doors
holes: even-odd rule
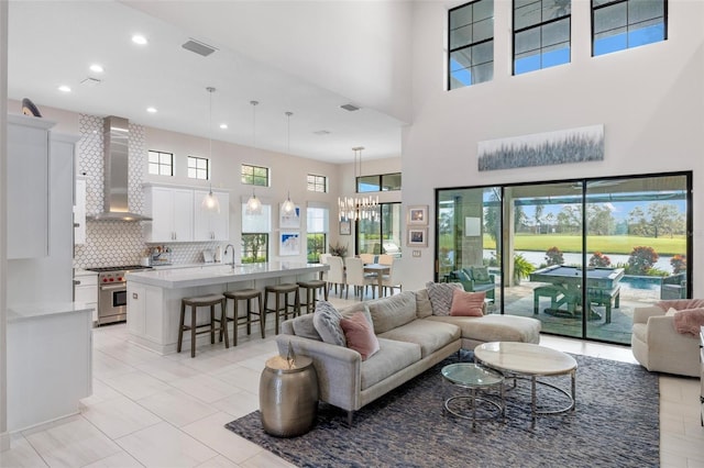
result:
[[[435,188],[694,171],[694,258],[704,241],[704,2],[669,1],[669,38],[590,57],[590,2],[572,2],[572,63],[510,76],[510,2],[495,2],[494,80],[448,92],[447,7],[414,12],[414,123],[404,130],[404,204],[429,204]],[[592,124],[605,126],[603,161],[479,172],[477,142]],[[413,187],[413,190],[408,190]],[[432,230],[430,230],[432,231]],[[405,288],[432,278],[433,233],[411,258]],[[694,296],[704,265],[693,264]]]

